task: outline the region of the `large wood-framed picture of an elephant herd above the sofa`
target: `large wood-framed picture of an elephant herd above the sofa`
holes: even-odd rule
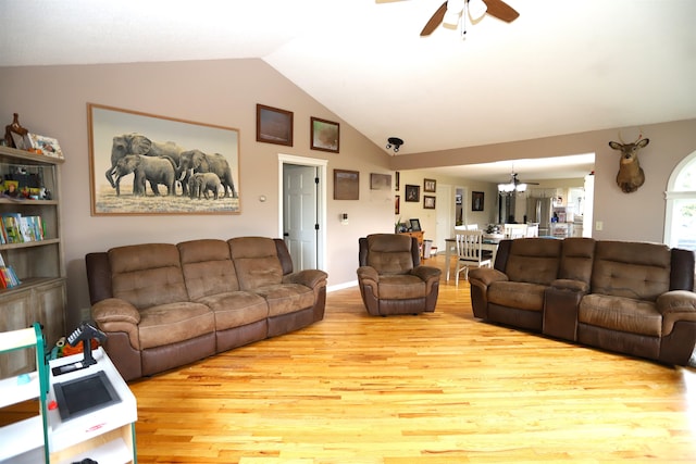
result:
[[[87,104],[91,214],[239,214],[239,130]]]

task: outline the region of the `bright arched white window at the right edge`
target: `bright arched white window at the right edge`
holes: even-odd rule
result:
[[[696,251],[696,151],[676,165],[664,198],[664,243]]]

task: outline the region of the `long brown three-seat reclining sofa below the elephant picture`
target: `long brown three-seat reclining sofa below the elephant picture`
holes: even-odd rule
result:
[[[91,316],[126,380],[324,317],[326,273],[294,273],[279,239],[145,243],[85,260]]]

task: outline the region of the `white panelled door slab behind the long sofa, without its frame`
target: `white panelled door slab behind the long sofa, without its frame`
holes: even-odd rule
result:
[[[295,271],[319,267],[318,186],[316,166],[283,165],[283,238]]]

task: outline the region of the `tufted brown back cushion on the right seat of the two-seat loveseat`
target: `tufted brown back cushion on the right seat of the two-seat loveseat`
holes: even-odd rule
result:
[[[666,244],[597,241],[592,292],[656,301],[670,289],[670,249]]]

